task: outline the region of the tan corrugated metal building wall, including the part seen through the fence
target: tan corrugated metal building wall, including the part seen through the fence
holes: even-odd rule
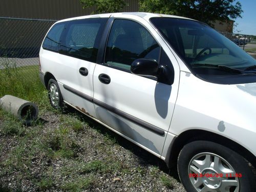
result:
[[[123,11],[138,11],[138,0],[126,2],[129,6]],[[92,11],[92,8],[82,9],[79,0],[0,0],[0,17],[59,20],[89,15]],[[53,23],[44,20],[0,18],[0,57],[35,57],[42,38]]]

